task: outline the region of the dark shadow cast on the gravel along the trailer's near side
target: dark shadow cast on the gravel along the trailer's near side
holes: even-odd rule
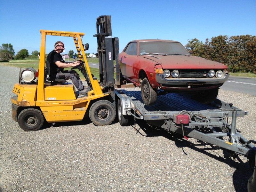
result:
[[[185,140],[182,135],[175,133],[175,132],[169,132],[163,128],[159,128],[153,125],[150,125],[146,123],[145,121],[136,121],[137,125],[136,127],[132,125],[132,127],[137,131],[136,134],[140,134],[145,137],[165,137],[169,140],[172,140],[175,142],[175,145],[178,148],[182,148],[185,155],[187,153],[184,151],[183,148],[190,148],[197,152],[203,153],[211,158],[214,158],[222,163],[228,164],[230,167],[235,168],[235,172],[233,173],[233,185],[236,192],[245,192],[247,191],[247,181],[252,175],[252,170],[250,168],[249,163],[247,162],[247,159],[244,157],[243,161],[238,157],[237,159],[233,160],[229,156],[229,152],[225,149],[222,149],[217,146],[213,146],[209,143],[205,143],[203,141],[197,141],[197,143],[190,142],[189,140]],[[145,133],[141,133],[140,129],[143,130]],[[199,146],[203,146],[204,148],[198,148]],[[221,154],[218,154],[217,152],[214,152],[214,150],[222,149],[223,151],[223,157]],[[214,152],[215,154],[209,153],[208,151]],[[246,159],[246,161],[244,160]],[[244,163],[245,162],[245,163]],[[216,168],[218,168],[218,165],[216,165]],[[221,173],[225,174],[225,173]],[[229,177],[229,176],[227,176]]]

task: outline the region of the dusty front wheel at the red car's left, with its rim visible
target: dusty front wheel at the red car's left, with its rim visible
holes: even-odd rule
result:
[[[141,82],[141,97],[145,105],[153,105],[157,99],[157,90],[151,87],[146,77]]]

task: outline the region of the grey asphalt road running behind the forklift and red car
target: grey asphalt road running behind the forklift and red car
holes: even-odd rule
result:
[[[89,66],[99,68],[99,63],[89,63]],[[256,78],[229,76],[220,89],[256,96]]]

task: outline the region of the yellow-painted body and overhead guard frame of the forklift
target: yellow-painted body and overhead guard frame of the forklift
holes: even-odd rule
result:
[[[84,47],[81,46],[83,44],[81,37],[85,34],[50,30],[40,30],[40,33],[41,57],[37,84],[15,84],[13,92],[17,94],[17,97],[12,97],[12,103],[19,106],[39,107],[47,122],[80,121],[84,118],[84,114],[92,100],[105,99],[109,95],[109,93],[103,94],[98,80],[93,80],[92,78]],[[73,38],[79,58],[85,62],[85,66],[83,65],[82,68],[84,71],[87,70],[92,83],[93,90],[88,93],[87,97],[77,98],[73,84],[51,85],[46,83],[46,74],[44,74],[45,57],[42,56],[45,55],[45,39],[47,35]]]

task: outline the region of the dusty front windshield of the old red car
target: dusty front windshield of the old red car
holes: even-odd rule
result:
[[[156,55],[187,55],[190,54],[181,43],[177,42],[161,42],[146,41],[139,44],[140,55],[156,54]]]

